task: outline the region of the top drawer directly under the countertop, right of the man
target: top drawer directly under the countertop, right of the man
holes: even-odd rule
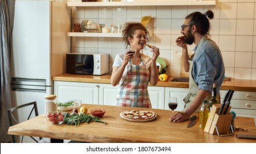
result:
[[[226,95],[227,90],[221,90],[220,95],[223,99]],[[232,96],[232,100],[252,100],[256,101],[256,92],[252,91],[234,91],[234,94]]]

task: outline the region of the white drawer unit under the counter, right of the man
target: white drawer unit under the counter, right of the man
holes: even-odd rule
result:
[[[221,90],[221,102],[227,91]],[[252,91],[234,91],[230,102],[231,111],[237,116],[254,117],[256,124],[256,92]]]

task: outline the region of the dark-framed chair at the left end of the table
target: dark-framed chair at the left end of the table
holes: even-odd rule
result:
[[[19,123],[18,112],[21,110],[21,108],[25,108],[25,107],[30,109],[30,113],[29,113],[27,120],[30,118],[34,118],[34,116],[38,116],[38,107],[36,105],[36,101],[10,108],[7,110],[10,126]],[[24,110],[23,110],[23,112],[24,112]],[[34,112],[34,114],[33,114],[33,112]],[[20,114],[25,115],[24,113],[20,113]],[[32,138],[35,142],[38,142],[38,140],[36,140],[34,137],[30,136],[30,138]],[[12,139],[13,139],[13,142],[15,143],[16,142],[15,135],[12,135]],[[43,138],[40,137],[39,140],[41,140],[41,139],[43,139]],[[23,136],[22,136],[22,139],[20,142],[23,142]]]

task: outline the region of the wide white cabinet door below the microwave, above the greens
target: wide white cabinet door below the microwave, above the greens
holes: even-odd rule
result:
[[[59,102],[80,99],[82,103],[98,104],[98,88],[95,83],[54,81],[54,95]]]

